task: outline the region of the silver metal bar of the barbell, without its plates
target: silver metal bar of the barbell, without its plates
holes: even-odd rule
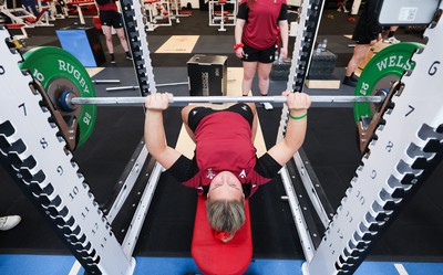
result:
[[[312,103],[381,103],[384,96],[310,96]],[[174,103],[286,103],[286,96],[172,96]],[[145,97],[71,97],[70,94],[61,98],[68,106],[74,105],[142,105]],[[63,104],[62,104],[63,105]]]

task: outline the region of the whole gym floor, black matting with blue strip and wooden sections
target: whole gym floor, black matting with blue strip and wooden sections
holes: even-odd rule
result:
[[[158,27],[147,33],[152,65],[157,84],[187,82],[187,61],[195,54],[217,54],[228,57],[228,82],[238,78],[241,63],[233,53],[234,28],[218,32],[208,27],[207,11],[192,10],[188,18],[181,18],[173,27]],[[352,33],[356,23],[348,21],[349,14],[326,7],[318,40],[328,39],[328,50],[337,55],[333,77],[341,80],[344,66],[352,55],[352,41],[344,35]],[[31,35],[27,47],[61,46],[55,30],[75,24],[70,18],[56,20],[54,28],[28,30]],[[92,24],[92,18],[86,17]],[[13,33],[13,32],[12,32]],[[157,53],[173,35],[198,35],[189,53]],[[401,28],[395,35],[401,41],[423,42],[421,34]],[[104,36],[100,34],[103,49]],[[290,39],[292,52],[293,38]],[[122,86],[136,85],[131,61],[114,38],[116,64],[107,61],[100,70],[92,70],[93,80],[120,80]],[[106,50],[105,50],[106,52]],[[241,74],[239,74],[241,77]],[[229,85],[229,84],[228,84]],[[113,85],[95,85],[97,96],[134,96],[137,91],[105,92]],[[286,88],[286,81],[271,81],[270,95]],[[159,87],[158,92],[188,95],[187,85]],[[352,95],[353,89],[341,85],[339,89],[310,89],[311,95]],[[257,82],[253,94],[258,95]],[[309,113],[309,129],[303,145],[311,166],[319,178],[333,208],[337,208],[354,170],[360,162],[356,140],[356,124],[352,106],[327,106],[312,108]],[[258,109],[265,146],[275,144],[280,121],[281,106],[274,110]],[[114,184],[120,179],[136,146],[143,138],[144,113],[141,107],[99,107],[94,133],[87,142],[74,151],[75,161],[85,176],[96,201],[105,204]],[[178,142],[181,130],[179,107],[165,113],[166,135],[169,145]],[[403,205],[396,219],[381,232],[367,261],[356,274],[443,274],[443,177],[440,166],[420,190]],[[1,215],[20,214],[22,222],[11,231],[0,233],[1,274],[68,274],[75,262],[69,250],[59,240],[51,226],[21,193],[14,181],[0,168]],[[287,202],[281,201],[284,188],[279,179],[264,186],[251,199],[251,225],[254,261],[247,274],[301,274],[303,253]],[[112,224],[120,240],[131,204],[124,214]],[[194,190],[175,182],[167,173],[161,177],[148,215],[138,237],[134,256],[137,261],[135,274],[185,274],[198,272],[190,257],[190,240],[194,225],[196,194]]]

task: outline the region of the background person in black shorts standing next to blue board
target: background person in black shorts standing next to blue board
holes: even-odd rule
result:
[[[111,55],[111,63],[115,64],[114,44],[112,43],[112,28],[114,28],[115,32],[117,33],[120,43],[122,44],[123,50],[126,53],[126,59],[132,60],[123,29],[122,14],[119,12],[117,4],[114,0],[99,0],[96,1],[96,3],[100,12],[100,22],[102,24],[102,30],[106,39],[107,51]]]

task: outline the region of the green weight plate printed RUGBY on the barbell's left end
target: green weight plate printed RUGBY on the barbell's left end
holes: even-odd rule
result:
[[[35,47],[23,54],[20,64],[39,81],[56,106],[58,95],[65,89],[81,97],[95,97],[92,81],[82,65],[72,54],[55,46]],[[64,91],[63,91],[64,89]],[[82,105],[75,114],[78,126],[76,147],[82,146],[91,136],[96,120],[95,105]]]

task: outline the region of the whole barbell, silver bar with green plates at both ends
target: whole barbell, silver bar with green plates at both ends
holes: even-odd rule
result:
[[[411,55],[421,45],[416,43],[395,44],[379,52],[364,68],[353,96],[311,96],[312,103],[344,104],[354,103],[356,123],[359,129],[359,142],[363,150],[370,131],[378,121],[377,114],[392,96],[391,84],[406,70]],[[380,57],[379,57],[380,56]],[[59,47],[35,47],[23,54],[20,64],[41,85],[40,93],[48,104],[54,106],[55,117],[63,117],[61,128],[75,137],[70,149],[83,145],[91,136],[96,120],[95,105],[137,106],[145,103],[144,97],[95,97],[94,85],[84,66],[70,53]],[[395,62],[393,62],[395,61]],[[391,66],[393,64],[394,66]],[[285,103],[286,96],[173,96],[171,103]],[[315,106],[316,107],[316,106]],[[61,115],[61,116],[60,116]],[[375,116],[374,116],[375,115]],[[374,117],[374,119],[372,119]],[[370,121],[370,123],[368,123]],[[68,138],[66,138],[68,139]]]

